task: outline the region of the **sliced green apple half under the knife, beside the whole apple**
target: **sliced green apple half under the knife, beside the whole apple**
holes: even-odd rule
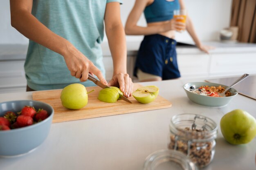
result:
[[[101,102],[114,103],[119,99],[119,91],[117,87],[103,88],[99,91],[98,99]],[[119,88],[118,88],[119,89]],[[119,89],[120,90],[120,89]]]

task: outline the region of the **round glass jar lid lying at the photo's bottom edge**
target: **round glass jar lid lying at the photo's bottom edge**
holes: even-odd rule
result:
[[[148,155],[144,170],[198,170],[184,153],[177,150],[157,150]]]

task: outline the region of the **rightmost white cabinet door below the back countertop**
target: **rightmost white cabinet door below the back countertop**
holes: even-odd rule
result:
[[[256,74],[255,53],[213,54],[209,70],[211,75]]]

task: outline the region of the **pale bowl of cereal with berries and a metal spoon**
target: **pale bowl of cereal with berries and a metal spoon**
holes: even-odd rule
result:
[[[226,96],[221,97],[219,93],[227,87],[210,82],[190,82],[183,85],[186,95],[192,102],[210,107],[226,106],[238,94],[236,89],[230,88],[225,93]]]

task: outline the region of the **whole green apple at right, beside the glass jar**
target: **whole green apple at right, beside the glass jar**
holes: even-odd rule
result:
[[[220,130],[230,144],[247,144],[256,136],[256,119],[244,110],[232,110],[221,118]]]

